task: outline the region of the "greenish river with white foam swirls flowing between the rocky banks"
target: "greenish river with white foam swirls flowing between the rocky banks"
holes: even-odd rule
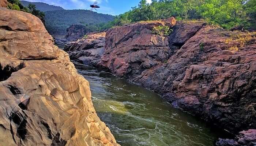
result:
[[[122,146],[214,146],[220,135],[153,91],[75,63],[89,80],[99,118]]]

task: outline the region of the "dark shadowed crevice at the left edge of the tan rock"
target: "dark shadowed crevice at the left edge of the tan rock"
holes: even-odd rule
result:
[[[8,78],[10,78],[13,72],[21,70],[24,67],[25,64],[23,62],[16,67],[11,66],[10,64],[7,64],[5,67],[3,67],[0,63],[0,82],[7,80]]]

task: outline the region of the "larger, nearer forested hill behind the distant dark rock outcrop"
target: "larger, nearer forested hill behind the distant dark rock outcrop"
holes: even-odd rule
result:
[[[45,12],[45,25],[50,34],[64,35],[66,29],[72,24],[82,24],[95,31],[108,21],[114,20],[114,16],[101,14],[89,10],[57,10]]]

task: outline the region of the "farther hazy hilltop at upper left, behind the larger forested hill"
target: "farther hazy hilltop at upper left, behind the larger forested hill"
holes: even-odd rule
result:
[[[41,3],[41,2],[29,2],[29,1],[25,1],[25,0],[21,0],[20,1],[22,3],[22,5],[24,5],[25,7],[28,7],[29,4],[34,4],[35,7],[42,11],[42,12],[45,12],[45,11],[54,11],[54,10],[64,10],[62,7],[59,7],[59,6],[55,6],[55,5],[49,5],[49,4],[46,4],[46,3]]]

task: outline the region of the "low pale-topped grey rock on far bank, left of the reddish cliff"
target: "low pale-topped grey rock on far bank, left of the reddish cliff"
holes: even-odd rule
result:
[[[64,51],[69,53],[71,59],[91,66],[97,66],[105,52],[106,32],[88,35],[65,45]]]

